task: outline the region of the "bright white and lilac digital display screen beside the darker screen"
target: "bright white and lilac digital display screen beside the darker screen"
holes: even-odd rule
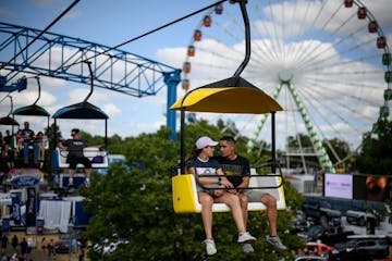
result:
[[[324,196],[353,199],[353,175],[326,173]]]

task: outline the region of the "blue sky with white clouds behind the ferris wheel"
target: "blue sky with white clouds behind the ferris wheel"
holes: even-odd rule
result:
[[[282,137],[306,132],[306,124],[297,115],[301,111],[294,112],[304,105],[306,109],[303,112],[307,113],[320,135],[347,139],[351,146],[357,146],[362,133],[369,130],[376,121],[387,88],[382,78],[385,70],[379,64],[382,52],[376,48],[376,36],[366,32],[367,22],[355,17],[356,8],[335,12],[343,2],[340,0],[328,0],[326,4],[326,1],[319,0],[271,2],[274,3],[271,7],[265,5],[267,1],[256,0],[249,0],[247,4],[253,52],[242,76],[261,86],[269,95],[273,95],[279,86],[277,75],[289,72],[294,76],[291,84],[295,88],[282,88],[279,96],[279,102],[286,112],[278,122],[278,132]],[[362,2],[376,17],[387,39],[391,39],[390,1]],[[2,0],[0,22],[44,29],[71,3],[63,0]],[[83,0],[49,32],[117,46],[211,3],[213,1],[210,0]],[[211,14],[212,26],[209,28],[200,27],[206,14],[200,13],[121,49],[179,69],[184,61],[191,62],[192,72],[182,75],[189,78],[191,88],[230,77],[244,58],[244,33],[238,7],[224,4],[223,15]],[[204,33],[200,42],[192,40],[196,28]],[[189,44],[196,47],[195,58],[186,55]],[[1,61],[11,55],[0,52]],[[89,92],[88,85],[44,76],[40,85],[38,104],[51,114],[62,107],[82,101]],[[293,91],[302,97],[299,103],[291,98]],[[179,85],[177,96],[184,94]],[[0,100],[5,95],[0,92]],[[14,109],[32,104],[37,98],[36,82],[28,79],[27,89],[12,96]],[[109,115],[109,136],[118,134],[127,137],[152,133],[166,125],[166,96],[164,88],[157,96],[145,98],[95,88],[89,102]],[[9,101],[3,100],[0,114],[9,110]],[[220,116],[198,115],[211,123]],[[16,120],[29,121],[35,130],[46,126],[46,121],[37,117],[19,116]],[[270,132],[267,123],[266,126],[260,125],[260,116],[228,115],[224,120],[233,121],[248,136],[265,137]],[[65,137],[72,127],[103,135],[101,122],[63,121],[59,125]],[[280,146],[283,146],[283,139]]]

